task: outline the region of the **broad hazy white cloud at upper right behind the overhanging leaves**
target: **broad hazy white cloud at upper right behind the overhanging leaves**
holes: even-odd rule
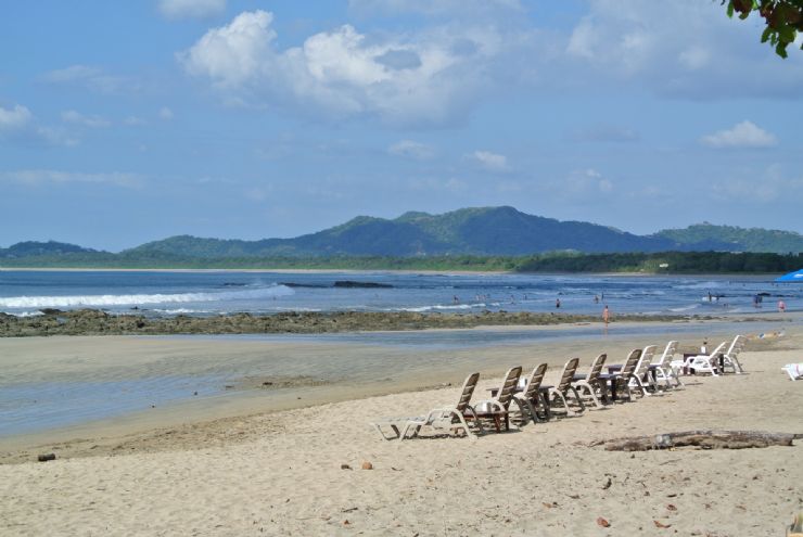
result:
[[[590,0],[568,38],[563,68],[576,84],[623,81],[668,97],[798,98],[803,56],[780,62],[760,34],[725,16],[721,2]]]

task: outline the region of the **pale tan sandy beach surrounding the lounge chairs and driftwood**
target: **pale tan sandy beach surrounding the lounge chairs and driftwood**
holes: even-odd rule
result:
[[[712,327],[711,335],[728,334]],[[61,436],[7,438],[0,444],[0,534],[783,535],[803,507],[801,440],[793,447],[635,453],[592,444],[696,429],[803,433],[803,383],[791,382],[779,369],[803,361],[799,322],[789,323],[781,337],[751,340],[742,354],[747,374],[689,376],[685,389],[578,418],[530,423],[475,440],[385,442],[369,425],[381,417],[454,404],[472,370],[482,373],[477,399],[509,366],[527,370],[548,361],[548,380],[555,381],[572,356],[586,369],[600,351],[621,362],[633,347],[665,343],[625,336],[474,353],[430,349],[430,366],[405,371],[398,382],[388,373],[384,384],[285,386],[304,394],[292,404],[243,389],[242,397],[214,411],[197,401]],[[688,335],[680,343],[699,344]],[[40,378],[53,370],[102,371],[110,353],[124,356],[140,374],[165,356],[195,353],[211,365],[228,355],[247,363],[265,350],[258,342],[125,336],[2,340],[0,345],[5,374],[28,368],[25,374]],[[292,357],[317,349],[331,357],[343,348],[399,353],[327,344],[272,344],[271,353]],[[477,355],[485,360],[477,361]],[[26,363],[31,356],[38,372]],[[442,366],[432,367],[438,360]],[[282,410],[282,405],[301,408]],[[56,460],[35,462],[46,452]],[[373,469],[362,470],[364,462]],[[599,525],[600,517],[610,526]]]

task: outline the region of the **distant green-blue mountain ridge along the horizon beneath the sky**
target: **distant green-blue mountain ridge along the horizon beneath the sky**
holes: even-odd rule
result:
[[[149,242],[119,254],[71,244],[25,242],[0,248],[0,259],[47,255],[118,256],[128,259],[197,259],[318,256],[524,256],[544,252],[803,252],[794,231],[744,229],[708,222],[685,229],[636,235],[582,221],[527,215],[513,207],[473,207],[442,215],[405,213],[395,219],[358,216],[316,233],[294,239],[258,241],[177,235]]]

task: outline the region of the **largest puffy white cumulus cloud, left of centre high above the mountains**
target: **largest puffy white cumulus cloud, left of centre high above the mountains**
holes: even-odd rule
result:
[[[280,50],[272,22],[266,11],[241,13],[177,59],[227,102],[436,126],[464,119],[469,103],[497,84],[493,60],[506,47],[505,36],[487,26],[369,37],[343,25]]]

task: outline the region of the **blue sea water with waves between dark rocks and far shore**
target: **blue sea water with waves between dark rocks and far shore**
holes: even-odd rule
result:
[[[336,281],[387,287],[335,287]],[[432,274],[408,272],[153,272],[0,271],[0,311],[28,316],[41,308],[100,308],[149,316],[219,315],[238,311],[484,310],[693,315],[803,307],[801,286],[770,277]],[[595,296],[600,302],[595,302]],[[711,299],[709,299],[711,296]]]

